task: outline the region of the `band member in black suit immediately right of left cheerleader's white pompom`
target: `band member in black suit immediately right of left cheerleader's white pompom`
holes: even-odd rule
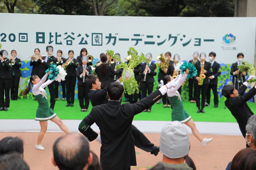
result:
[[[75,86],[76,86],[76,68],[79,66],[79,62],[74,58],[74,51],[68,51],[69,58],[65,60],[65,63],[69,62],[65,77],[65,85],[67,89],[67,106],[74,106],[75,99]]]

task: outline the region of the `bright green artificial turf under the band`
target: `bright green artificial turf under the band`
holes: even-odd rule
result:
[[[49,101],[49,100],[48,100]],[[74,107],[66,107],[67,102],[58,99],[56,101],[54,111],[60,119],[78,119],[82,120],[84,116],[90,113],[92,108],[91,104],[87,112],[81,112],[79,101],[75,100]],[[256,112],[256,104],[247,103],[252,112]],[[219,107],[212,108],[205,107],[203,113],[196,113],[197,108],[195,103],[183,102],[184,109],[191,115],[196,122],[236,122],[236,119],[231,115],[230,111],[226,108],[223,102],[219,102]],[[0,119],[34,119],[38,103],[33,99],[18,99],[10,101],[10,108],[8,111],[0,111]],[[172,120],[171,108],[163,108],[163,104],[154,104],[151,112],[142,112],[135,115],[133,120]]]

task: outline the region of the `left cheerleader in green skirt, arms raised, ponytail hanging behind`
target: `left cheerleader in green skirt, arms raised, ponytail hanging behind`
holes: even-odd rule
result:
[[[25,91],[22,92],[23,95],[27,95],[31,89],[30,83],[32,83],[33,88],[32,92],[38,102],[37,113],[35,115],[35,120],[39,120],[41,130],[38,134],[37,138],[37,145],[35,145],[35,149],[38,150],[45,150],[44,147],[41,145],[42,139],[44,138],[44,134],[47,130],[47,120],[51,120],[52,122],[56,123],[61,130],[65,133],[70,133],[67,126],[60,120],[60,118],[54,113],[54,111],[49,108],[46,91],[44,88],[48,86],[53,80],[46,80],[47,76],[50,74],[48,71],[42,79],[40,79],[37,75],[32,75],[30,77],[30,82]]]

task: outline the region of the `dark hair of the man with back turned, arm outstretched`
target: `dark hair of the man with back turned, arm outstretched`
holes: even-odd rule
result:
[[[124,92],[124,87],[119,82],[111,82],[107,91],[110,100],[119,100]]]

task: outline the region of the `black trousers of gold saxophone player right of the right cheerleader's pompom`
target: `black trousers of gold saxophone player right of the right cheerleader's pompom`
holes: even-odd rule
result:
[[[208,88],[209,84],[203,84],[202,86],[199,86],[198,83],[194,83],[194,87],[195,87],[195,91],[196,91],[196,107],[198,107],[198,109],[204,109],[204,104],[205,104],[205,100],[206,100],[206,91]],[[201,100],[201,108],[200,108],[200,94],[202,94],[202,100]]]

